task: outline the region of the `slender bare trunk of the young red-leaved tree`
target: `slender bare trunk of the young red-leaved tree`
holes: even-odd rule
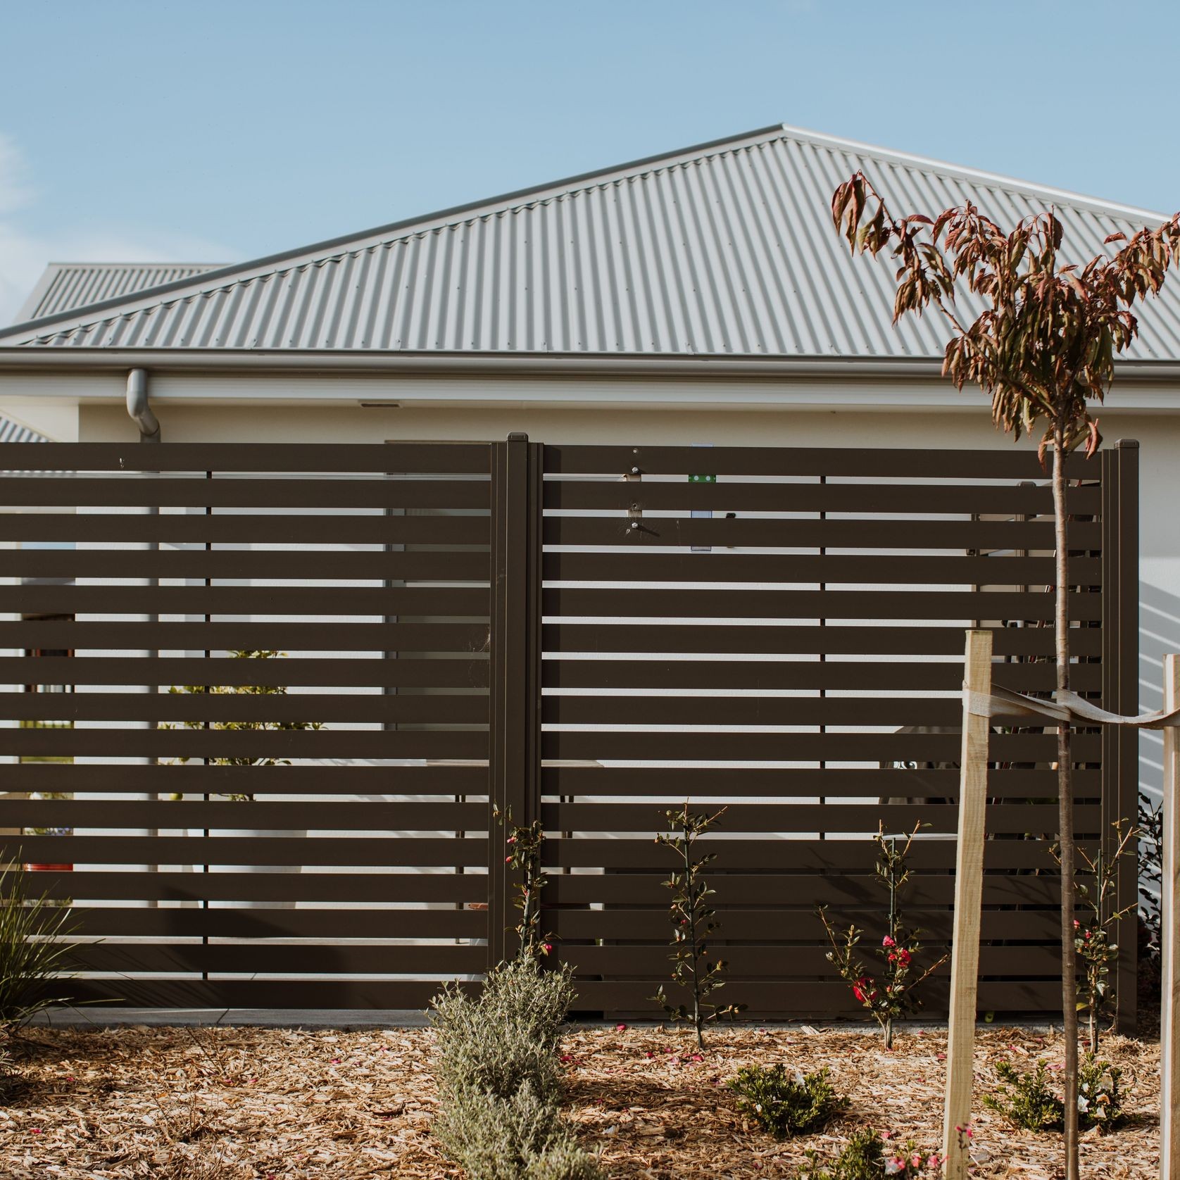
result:
[[[1053,506],[1057,545],[1057,691],[1069,690],[1069,551],[1066,548],[1064,431],[1054,430]],[[1077,956],[1074,948],[1074,787],[1070,727],[1057,726],[1057,811],[1061,839],[1061,1016],[1066,1040],[1066,1180],[1079,1180],[1077,1162]]]

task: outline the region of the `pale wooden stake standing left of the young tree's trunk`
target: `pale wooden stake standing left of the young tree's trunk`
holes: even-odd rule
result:
[[[991,631],[966,632],[963,681],[971,693],[991,691]],[[986,717],[963,701],[959,761],[959,831],[955,865],[955,942],[946,1037],[946,1106],[943,1117],[943,1176],[965,1180],[971,1081],[975,1064],[976,995],[979,983],[979,922],[983,911],[983,825],[988,804]]]

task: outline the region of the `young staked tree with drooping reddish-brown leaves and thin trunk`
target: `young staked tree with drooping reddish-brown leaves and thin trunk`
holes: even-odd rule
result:
[[[1180,256],[1180,214],[1141,229],[1116,253],[1061,264],[1062,224],[1050,209],[1004,234],[972,204],[935,217],[896,217],[863,172],[832,197],[832,221],[853,254],[883,250],[898,261],[893,322],[933,308],[950,328],[943,374],[991,398],[991,418],[1015,438],[1043,430],[1038,455],[1053,453],[1056,540],[1057,690],[1069,690],[1069,553],[1066,457],[1101,444],[1089,399],[1101,402],[1114,355],[1139,330],[1132,308],[1154,295]],[[971,319],[957,297],[983,312]],[[1062,1016],[1066,1032],[1066,1176],[1077,1178],[1077,985],[1074,948],[1074,793],[1070,727],[1057,727],[1061,840]]]

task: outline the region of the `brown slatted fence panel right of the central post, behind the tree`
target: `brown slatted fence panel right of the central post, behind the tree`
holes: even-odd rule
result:
[[[1103,624],[1120,592],[1134,595],[1110,556],[1115,519],[1126,531],[1134,514],[1126,458],[1070,460],[1069,523],[1074,684],[1123,706],[1134,640],[1123,629],[1112,641]],[[582,1003],[653,1010],[673,867],[653,834],[689,800],[726,808],[706,844],[732,964],[725,1002],[854,1014],[815,907],[864,926],[876,962],[878,822],[922,826],[907,917],[931,943],[950,935],[964,628],[995,630],[997,683],[1054,687],[1053,502],[1036,458],[546,446],[544,467],[548,924]],[[1108,745],[1075,739],[1086,841],[1134,815],[1134,767],[1120,778]],[[1053,1011],[1055,736],[997,727],[990,758],[981,1007]],[[1125,865],[1123,887],[1134,876]],[[1133,944],[1122,940],[1123,1022]],[[926,988],[932,1014],[948,974]]]

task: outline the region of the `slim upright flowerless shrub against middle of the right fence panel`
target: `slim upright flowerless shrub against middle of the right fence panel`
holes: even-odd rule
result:
[[[716,853],[700,856],[696,841],[704,835],[725,813],[725,807],[713,815],[694,814],[688,804],[677,811],[664,812],[670,834],[656,837],[656,844],[671,848],[681,863],[681,868],[674,872],[664,885],[673,890],[670,906],[673,927],[673,952],[668,956],[673,964],[671,979],[678,988],[689,994],[687,1004],[673,1004],[664,994],[663,984],[650,998],[663,1007],[671,1021],[691,1024],[696,1032],[696,1043],[704,1048],[704,1025],[709,1021],[723,1016],[734,1017],[745,1010],[745,1004],[727,1004],[717,1008],[709,996],[725,986],[722,976],[726,970],[725,959],[709,952],[708,937],[721,923],[716,920],[716,911],[708,905],[713,890],[706,884],[701,870],[716,859]]]

